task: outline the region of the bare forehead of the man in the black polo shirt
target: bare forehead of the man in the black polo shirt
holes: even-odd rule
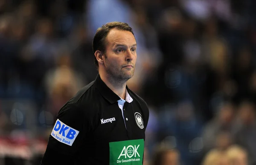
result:
[[[106,41],[110,46],[114,46],[116,43],[127,45],[136,44],[134,35],[131,32],[118,29],[111,29],[107,35]]]

